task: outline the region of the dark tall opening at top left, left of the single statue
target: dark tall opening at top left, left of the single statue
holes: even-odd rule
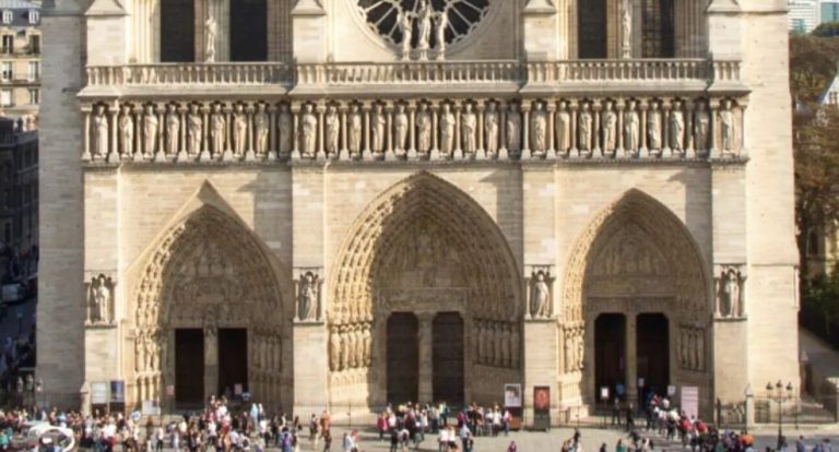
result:
[[[196,10],[193,0],[161,1],[161,61],[196,60]]]

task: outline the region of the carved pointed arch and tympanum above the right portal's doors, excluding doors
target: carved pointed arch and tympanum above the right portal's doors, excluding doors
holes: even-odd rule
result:
[[[565,281],[565,320],[583,320],[583,294],[672,295],[683,318],[709,316],[707,270],[688,234],[653,199],[627,193],[594,218],[575,248]]]

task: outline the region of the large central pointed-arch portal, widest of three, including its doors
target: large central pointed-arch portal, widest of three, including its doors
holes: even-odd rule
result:
[[[361,215],[330,293],[333,401],[492,402],[505,382],[521,380],[522,288],[507,240],[475,201],[435,176],[404,180]],[[416,391],[394,391],[400,384],[385,366],[400,366],[392,361],[402,348],[388,338],[393,316],[391,338],[397,319],[405,329],[418,324],[418,344],[403,347],[405,359],[418,359]]]

